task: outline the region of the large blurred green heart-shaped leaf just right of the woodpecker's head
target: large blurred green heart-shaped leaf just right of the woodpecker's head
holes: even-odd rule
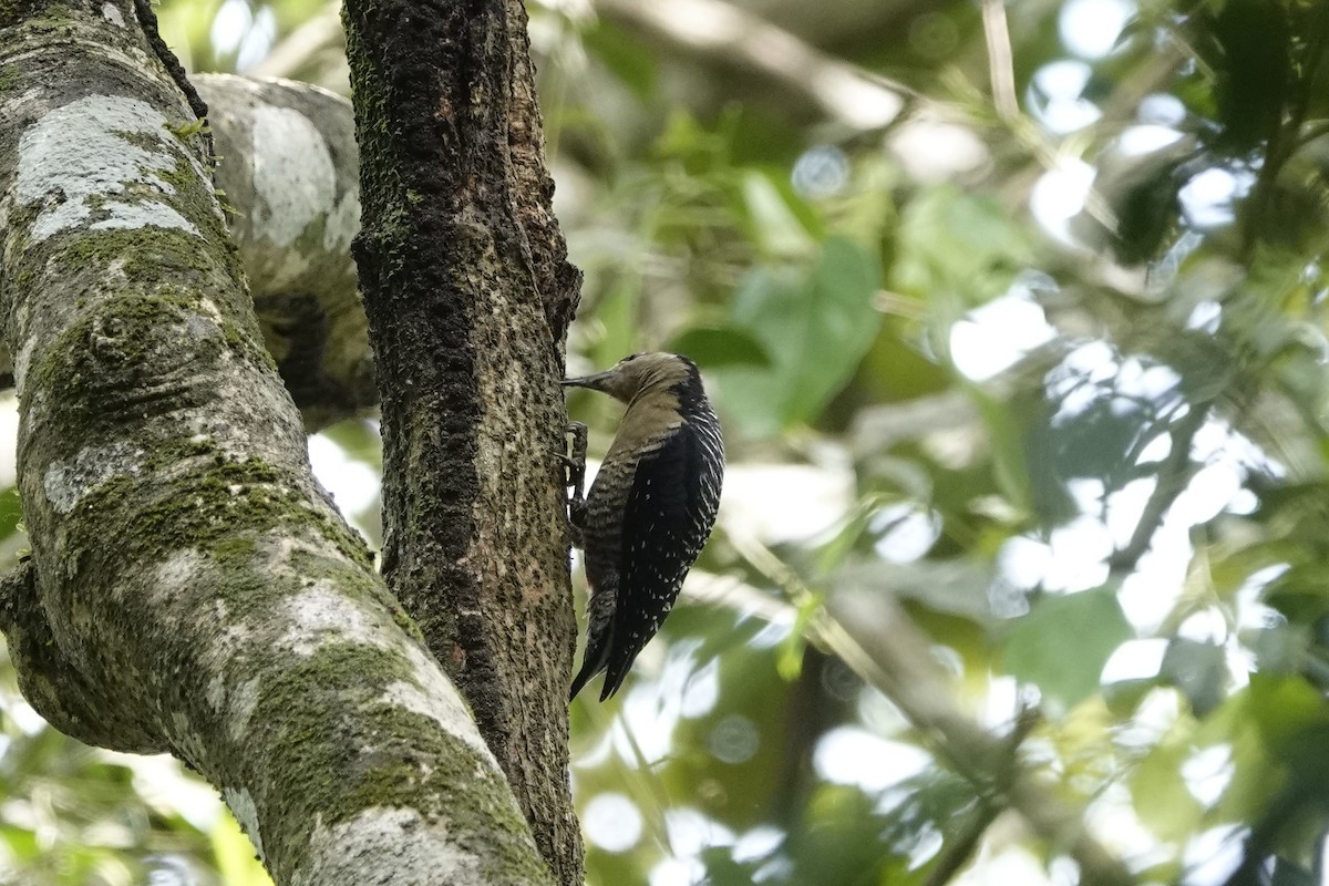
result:
[[[877,336],[880,286],[876,256],[841,236],[827,240],[807,276],[789,268],[748,275],[732,319],[762,343],[771,365],[715,373],[727,412],[747,433],[767,437],[821,414]]]

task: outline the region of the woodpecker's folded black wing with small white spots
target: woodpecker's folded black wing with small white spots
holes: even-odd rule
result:
[[[683,576],[715,522],[719,481],[706,460],[706,441],[684,424],[637,464],[623,511],[623,547],[614,640],[601,701],[614,695],[678,598]],[[714,485],[707,491],[706,482]]]

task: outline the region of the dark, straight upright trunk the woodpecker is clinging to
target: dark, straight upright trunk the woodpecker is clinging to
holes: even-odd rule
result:
[[[470,703],[541,853],[581,883],[557,381],[578,274],[517,0],[348,0],[383,410],[384,574]]]

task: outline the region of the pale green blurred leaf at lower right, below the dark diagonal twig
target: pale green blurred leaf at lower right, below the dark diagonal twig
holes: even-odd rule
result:
[[[1043,596],[1006,635],[1002,660],[1009,673],[1071,707],[1098,691],[1107,658],[1130,638],[1108,588]]]

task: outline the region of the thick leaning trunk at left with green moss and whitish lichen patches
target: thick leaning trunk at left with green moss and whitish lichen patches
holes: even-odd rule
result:
[[[206,149],[128,0],[0,8],[0,333],[33,705],[171,751],[278,883],[549,882],[460,696],[310,474]]]

